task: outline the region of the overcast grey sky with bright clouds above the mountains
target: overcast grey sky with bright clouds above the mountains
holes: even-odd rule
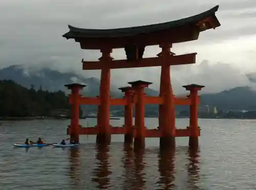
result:
[[[200,34],[199,40],[174,44],[176,54],[197,52],[197,63],[173,66],[175,93],[182,85],[205,85],[204,92],[217,92],[250,85],[245,73],[256,71],[256,1],[242,0],[2,0],[0,1],[0,63],[49,66],[59,71],[75,70],[84,76],[99,77],[99,72],[82,71],[81,59],[97,60],[99,51],[81,50],[79,43],[61,35],[68,24],[80,28],[109,29],[176,20],[220,5],[216,30]],[[155,57],[160,49],[147,47],[144,57]],[[112,53],[125,58],[122,49]],[[112,83],[143,79],[159,88],[160,68],[112,71]]]

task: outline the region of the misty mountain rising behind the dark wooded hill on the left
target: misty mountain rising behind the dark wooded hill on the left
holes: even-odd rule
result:
[[[21,65],[12,65],[0,70],[0,80],[13,80],[15,83],[22,85],[26,88],[34,86],[36,90],[40,87],[42,90],[56,91],[62,90],[67,91],[64,87],[70,83],[81,83],[87,85],[86,88],[81,92],[86,96],[98,96],[100,80],[95,77],[86,78],[82,75],[74,72],[61,73],[56,70],[49,68],[35,69],[35,68],[24,68]],[[158,94],[157,91],[147,89],[148,95]],[[111,96],[121,97],[123,94],[118,90],[118,87],[111,86]]]

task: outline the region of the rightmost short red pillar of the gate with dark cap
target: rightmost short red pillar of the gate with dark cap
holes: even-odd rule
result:
[[[190,91],[189,98],[191,100],[189,111],[189,146],[192,148],[198,147],[198,137],[199,137],[199,127],[198,127],[198,105],[199,105],[199,97],[198,91],[204,88],[201,85],[186,85],[183,86],[186,90]]]

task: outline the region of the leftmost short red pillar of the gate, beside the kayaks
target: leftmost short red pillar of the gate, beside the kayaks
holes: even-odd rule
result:
[[[86,87],[85,85],[80,84],[70,84],[65,85],[68,89],[71,89],[70,98],[73,100],[72,108],[71,108],[71,125],[70,125],[70,141],[75,141],[75,143],[79,143],[79,98],[80,98],[80,89]]]

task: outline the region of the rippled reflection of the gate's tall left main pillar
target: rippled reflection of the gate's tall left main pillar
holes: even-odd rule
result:
[[[110,187],[109,175],[110,171],[110,160],[109,160],[109,145],[96,145],[96,159],[97,163],[93,171],[92,181],[97,182],[97,188],[107,189]]]

